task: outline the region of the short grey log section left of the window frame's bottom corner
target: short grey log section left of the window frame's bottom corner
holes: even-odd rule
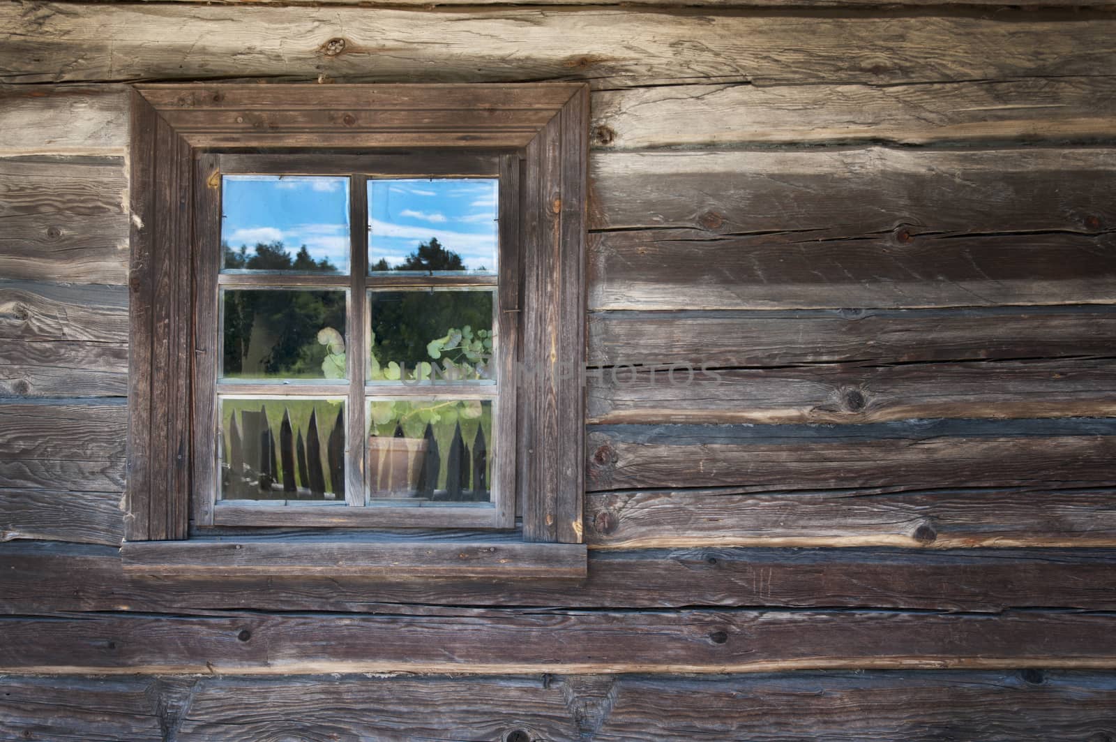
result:
[[[0,462],[0,468],[4,463]],[[49,483],[0,488],[0,542],[44,539],[119,545],[123,493],[49,489]]]

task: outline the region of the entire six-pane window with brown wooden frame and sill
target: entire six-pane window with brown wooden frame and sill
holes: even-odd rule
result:
[[[132,126],[125,567],[584,574],[585,86],[138,86]]]

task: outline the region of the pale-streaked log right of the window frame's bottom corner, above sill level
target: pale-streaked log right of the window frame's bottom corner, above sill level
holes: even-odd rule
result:
[[[1116,545],[1113,489],[653,491],[591,494],[585,510],[587,542],[609,549]]]

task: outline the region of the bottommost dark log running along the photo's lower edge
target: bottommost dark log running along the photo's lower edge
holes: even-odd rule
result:
[[[115,740],[337,739],[768,742],[1100,740],[1110,673],[872,670],[718,678],[0,678],[11,736]]]

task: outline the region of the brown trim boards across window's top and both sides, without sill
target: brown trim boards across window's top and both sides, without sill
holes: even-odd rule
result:
[[[510,308],[520,310],[519,360],[535,371],[517,400],[521,536],[581,542],[587,85],[136,85],[131,125],[128,542],[189,536],[191,450],[203,441],[183,420],[192,375],[217,361],[199,332],[208,321],[193,320],[217,280],[193,251],[194,203],[215,152],[244,148],[432,148],[463,162],[478,149],[518,152],[500,158],[500,175],[520,181],[526,303]],[[219,218],[198,229],[219,229]],[[576,349],[575,373],[556,348]]]

